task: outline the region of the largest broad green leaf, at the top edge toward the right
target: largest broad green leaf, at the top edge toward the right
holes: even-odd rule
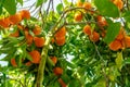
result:
[[[102,15],[119,17],[119,10],[110,0],[94,0],[94,4]]]

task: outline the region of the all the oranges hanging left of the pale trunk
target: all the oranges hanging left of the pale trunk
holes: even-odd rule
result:
[[[35,25],[32,29],[28,28],[27,26],[25,27],[21,24],[24,18],[30,18],[29,11],[22,10],[14,15],[0,20],[0,26],[3,28],[10,28],[13,25],[17,26],[17,29],[10,34],[11,37],[17,38],[24,36],[28,47],[34,44],[37,49],[42,48],[44,46],[46,39],[43,37],[39,37],[39,35],[41,34],[41,27],[38,25]],[[31,35],[29,30],[31,30],[34,35]],[[23,34],[21,34],[21,32]],[[40,51],[34,49],[29,51],[28,54],[31,57],[31,61],[26,62],[25,65],[30,65],[31,63],[39,64],[41,59]],[[13,66],[17,66],[14,58],[11,59],[11,64]]]

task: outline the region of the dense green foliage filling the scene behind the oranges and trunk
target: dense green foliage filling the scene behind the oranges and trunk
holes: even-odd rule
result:
[[[25,8],[23,5],[28,2],[25,0],[0,1],[1,20],[14,15],[23,9],[30,11],[30,20],[23,20],[20,24],[29,28],[29,34],[32,36],[35,36],[32,33],[35,25],[42,28],[38,37],[44,37],[46,40],[52,39],[55,30],[61,29],[62,26],[66,28],[63,46],[50,40],[48,47],[37,48],[35,42],[31,46],[25,42],[26,37],[23,30],[20,30],[20,37],[9,36],[16,32],[17,25],[10,27],[13,30],[0,26],[2,37],[0,54],[5,54],[1,61],[8,62],[6,66],[0,66],[0,87],[35,87],[39,64],[25,65],[26,62],[32,61],[28,52],[34,49],[40,51],[41,54],[46,53],[43,57],[47,58],[43,70],[44,79],[42,82],[44,87],[61,87],[58,78],[62,78],[68,87],[130,86],[130,48],[125,46],[118,50],[109,49],[109,44],[117,39],[121,27],[123,27],[127,36],[130,35],[130,1],[122,0],[126,7],[121,10],[110,0],[90,0],[91,10],[77,7],[78,1],[80,0],[73,2],[61,0],[54,7],[54,0],[36,0]],[[84,3],[87,0],[80,2]],[[74,16],[79,12],[82,14],[82,20],[76,22]],[[105,26],[101,26],[98,22],[99,15],[107,22]],[[98,41],[92,41],[91,36],[83,33],[83,27],[87,24],[100,35]],[[105,33],[106,36],[103,37],[102,33]],[[55,65],[50,57],[57,58]],[[16,60],[16,67],[11,64],[12,58]],[[56,66],[63,69],[62,75],[56,76],[53,73],[53,69]]]

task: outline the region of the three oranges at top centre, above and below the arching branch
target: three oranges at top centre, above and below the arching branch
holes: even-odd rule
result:
[[[78,0],[77,1],[77,7],[78,8],[84,8],[84,9],[87,9],[87,10],[90,10],[90,9],[92,9],[92,5],[91,5],[91,3],[90,2],[81,2],[81,0]],[[82,13],[81,12],[77,12],[76,14],[75,14],[75,16],[74,16],[74,18],[75,18],[75,21],[76,22],[80,22],[81,20],[82,20]]]

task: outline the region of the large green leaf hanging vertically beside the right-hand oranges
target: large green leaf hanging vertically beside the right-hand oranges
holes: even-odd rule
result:
[[[119,34],[119,30],[120,30],[120,23],[109,24],[104,41],[106,44],[112,42],[116,38],[116,36]]]

